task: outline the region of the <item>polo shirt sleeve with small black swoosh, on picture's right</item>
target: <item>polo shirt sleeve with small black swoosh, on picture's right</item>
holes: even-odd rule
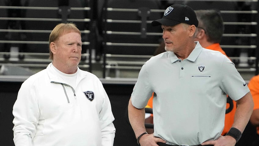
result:
[[[250,91],[246,85],[246,82],[235,68],[234,63],[231,62],[227,57],[225,57],[223,60],[221,72],[221,88],[233,100],[236,101],[242,98]]]

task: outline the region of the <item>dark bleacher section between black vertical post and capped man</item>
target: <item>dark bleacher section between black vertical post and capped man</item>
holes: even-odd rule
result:
[[[101,11],[104,78],[110,77],[109,70],[106,68],[114,68],[117,72],[120,67],[133,69],[135,66],[134,63],[130,63],[131,60],[120,62],[121,58],[130,58],[127,55],[154,54],[159,46],[162,31],[160,27],[151,27],[150,23],[162,16],[162,11],[158,11],[159,6],[160,2],[156,0],[107,0],[104,2]]]

